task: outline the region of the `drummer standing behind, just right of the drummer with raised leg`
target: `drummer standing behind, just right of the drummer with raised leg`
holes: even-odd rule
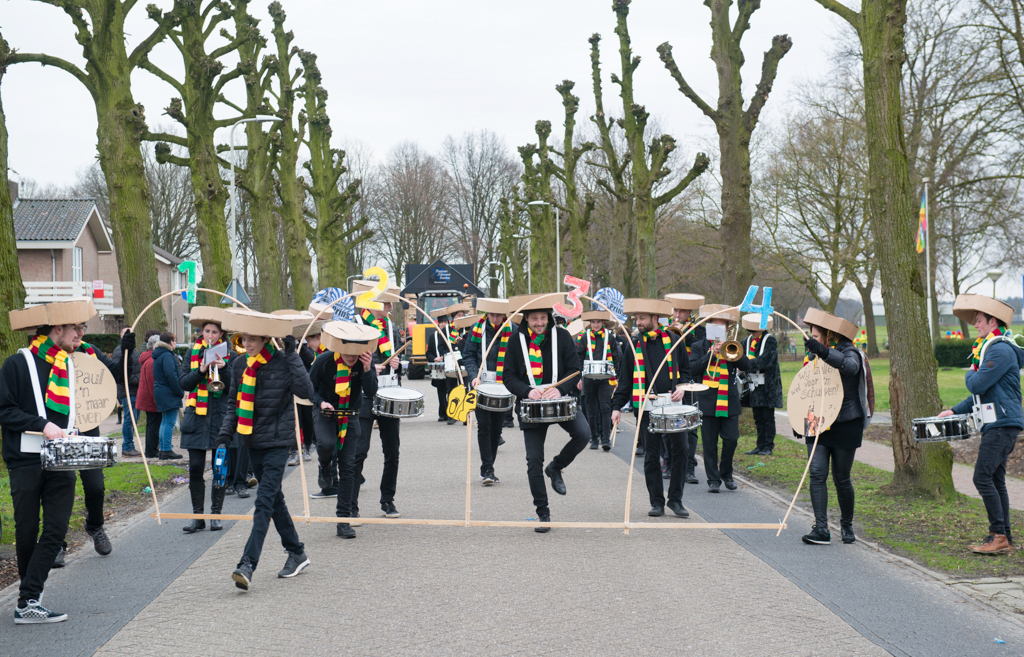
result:
[[[618,369],[618,341],[612,338],[605,322],[611,321],[607,310],[590,310],[581,317],[588,327],[577,337],[577,356],[581,362],[587,360],[607,360]],[[577,386],[587,398],[587,424],[590,425],[590,448],[597,449],[600,443],[604,451],[611,449],[611,394],[617,380],[583,379]]]

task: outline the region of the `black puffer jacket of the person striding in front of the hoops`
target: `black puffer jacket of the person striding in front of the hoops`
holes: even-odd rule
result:
[[[224,408],[224,423],[220,426],[217,442],[229,443],[238,427],[239,417],[234,406],[242,385],[242,374],[246,369],[246,356],[241,356],[231,366],[231,384],[227,390],[227,406]],[[249,449],[270,449],[295,445],[295,410],[293,395],[309,399],[312,386],[309,376],[302,365],[302,359],[294,351],[282,350],[256,370],[256,399],[253,407],[253,432],[242,436]]]

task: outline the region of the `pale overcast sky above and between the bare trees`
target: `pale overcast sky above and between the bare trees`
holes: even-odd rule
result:
[[[129,16],[129,49],[152,31],[145,4],[139,2]],[[171,6],[167,0],[157,4]],[[266,4],[257,0],[251,9],[268,34]],[[557,135],[562,107],[554,86],[565,78],[577,82],[578,122],[586,125],[594,107],[587,39],[595,32],[604,37],[605,106],[620,106],[617,88],[607,79],[618,68],[610,0],[285,0],[284,6],[295,45],[318,55],[336,140],[361,141],[376,159],[406,140],[436,151],[446,135],[482,128],[514,148],[536,138],[538,119],[551,120]],[[655,47],[671,42],[691,86],[714,105],[710,15],[698,0],[635,0],[630,14],[633,50],[643,58],[636,74],[637,101],[689,154],[698,149],[693,139],[714,132],[678,91]],[[11,47],[23,52],[82,62],[71,20],[60,9],[3,0],[0,28]],[[784,113],[797,84],[827,73],[842,29],[813,0],[765,0],[743,40],[746,98],[776,34],[788,34],[794,46],[780,65],[765,121]],[[181,70],[169,43],[159,46],[152,59],[172,74]],[[168,85],[137,71],[132,88],[151,128],[172,125],[163,116],[173,95]],[[12,178],[41,185],[74,182],[95,159],[95,111],[82,85],[56,69],[18,64],[8,70],[0,91],[10,132],[9,165],[16,172]],[[241,82],[229,95],[240,97]],[[218,138],[226,142],[226,130]]]

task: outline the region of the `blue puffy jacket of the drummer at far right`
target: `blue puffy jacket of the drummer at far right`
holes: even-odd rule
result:
[[[1024,351],[1016,345],[1000,340],[985,349],[984,360],[978,371],[969,370],[964,378],[968,392],[978,395],[982,404],[994,404],[995,422],[981,428],[982,433],[999,427],[1024,429],[1024,409],[1021,408],[1021,368]],[[953,406],[954,413],[969,413],[974,397],[968,397]]]

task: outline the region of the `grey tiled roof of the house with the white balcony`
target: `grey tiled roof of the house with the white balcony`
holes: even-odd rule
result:
[[[14,208],[19,249],[70,249],[87,225],[100,252],[114,250],[95,199],[18,199]]]

